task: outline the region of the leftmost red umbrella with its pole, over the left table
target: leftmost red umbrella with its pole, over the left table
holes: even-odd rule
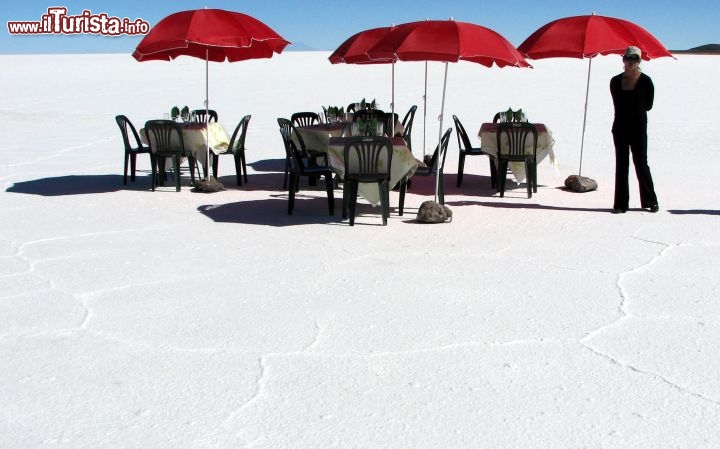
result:
[[[177,12],[160,20],[140,41],[133,57],[141,62],[170,61],[178,56],[204,59],[205,109],[209,109],[208,61],[270,58],[274,53],[282,52],[289,43],[270,27],[246,14],[223,9],[197,9]],[[209,152],[208,147],[208,161]]]

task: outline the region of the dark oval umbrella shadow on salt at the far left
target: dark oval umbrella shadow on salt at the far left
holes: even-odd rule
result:
[[[135,182],[128,179],[123,185],[122,175],[67,175],[16,182],[5,191],[28,195],[64,196],[109,193],[119,190],[150,190],[150,176],[136,175]]]

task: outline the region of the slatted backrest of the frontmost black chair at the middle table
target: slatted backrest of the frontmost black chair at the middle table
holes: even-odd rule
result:
[[[390,180],[392,143],[384,136],[350,137],[343,149],[345,178],[360,182]]]

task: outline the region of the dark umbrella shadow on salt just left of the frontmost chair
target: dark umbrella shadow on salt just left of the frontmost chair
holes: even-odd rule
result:
[[[273,194],[270,198],[261,200],[202,205],[197,210],[216,223],[285,227],[342,224],[338,216],[339,206],[336,199],[335,215],[329,215],[327,196],[313,196],[299,192],[295,195],[295,209],[292,215],[287,213],[287,193]]]

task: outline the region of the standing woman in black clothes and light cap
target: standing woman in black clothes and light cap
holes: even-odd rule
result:
[[[628,210],[630,153],[640,187],[640,205],[650,212],[657,212],[657,196],[647,164],[647,111],[652,109],[655,87],[650,77],[640,71],[639,48],[631,46],[625,50],[623,65],[623,73],[610,80],[610,94],[615,106],[612,127],[615,144],[613,213],[621,214]]]

